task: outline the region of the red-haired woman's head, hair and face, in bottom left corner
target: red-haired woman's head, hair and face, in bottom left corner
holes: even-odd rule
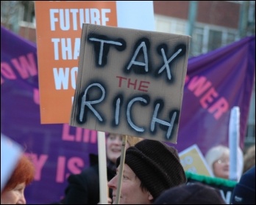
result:
[[[24,190],[35,176],[35,166],[26,155],[22,155],[4,190],[1,192],[1,204],[26,204]]]

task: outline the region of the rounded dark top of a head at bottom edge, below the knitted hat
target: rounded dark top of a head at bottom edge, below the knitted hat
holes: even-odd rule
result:
[[[164,191],[154,204],[226,204],[219,190],[201,183],[182,184]]]

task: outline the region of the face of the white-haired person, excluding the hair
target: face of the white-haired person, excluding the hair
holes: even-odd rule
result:
[[[222,156],[213,163],[213,174],[216,177],[229,179],[230,157],[228,154],[222,154]]]

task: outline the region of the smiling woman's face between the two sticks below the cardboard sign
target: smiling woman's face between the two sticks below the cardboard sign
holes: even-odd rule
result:
[[[112,134],[107,137],[107,158],[115,163],[116,159],[121,155],[121,146],[122,146],[122,135]],[[129,147],[127,143],[126,149]]]

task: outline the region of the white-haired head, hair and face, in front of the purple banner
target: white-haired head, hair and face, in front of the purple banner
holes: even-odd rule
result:
[[[229,179],[230,176],[230,149],[227,146],[213,146],[205,154],[210,169],[214,176]]]

